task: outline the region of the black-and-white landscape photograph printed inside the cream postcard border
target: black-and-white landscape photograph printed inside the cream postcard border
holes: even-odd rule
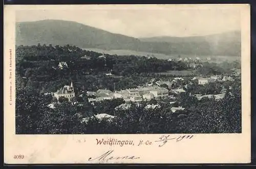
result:
[[[192,11],[17,11],[16,134],[241,133],[240,12]]]

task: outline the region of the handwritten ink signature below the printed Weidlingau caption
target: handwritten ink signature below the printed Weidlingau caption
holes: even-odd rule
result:
[[[136,157],[136,156],[112,156],[113,152],[114,152],[114,150],[109,150],[109,151],[105,152],[104,154],[100,155],[99,157],[96,157],[96,158],[90,157],[88,159],[88,161],[98,160],[98,161],[108,162],[109,160],[123,160],[123,159],[134,160],[134,159],[140,158],[140,157]]]

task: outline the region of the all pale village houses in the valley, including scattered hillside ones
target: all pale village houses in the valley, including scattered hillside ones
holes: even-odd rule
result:
[[[70,51],[72,52],[72,51]],[[98,58],[105,59],[105,54],[100,55]],[[147,57],[147,59],[151,59],[152,57]],[[91,57],[84,55],[80,59],[90,60]],[[174,61],[175,59],[166,59],[168,62]],[[203,66],[203,62],[210,61],[210,58],[202,61],[199,57],[195,59],[191,58],[178,58],[177,61],[183,62],[188,69],[197,69]],[[54,69],[68,69],[69,66],[67,62],[59,62],[58,66],[53,67]],[[110,73],[105,73],[105,76],[115,76]],[[64,85],[61,88],[57,89],[57,91],[47,92],[45,95],[51,95],[55,100],[48,105],[49,108],[55,109],[56,104],[60,104],[59,100],[67,99],[72,105],[78,104],[79,106],[83,106],[82,103],[77,102],[76,97],[83,98],[86,96],[88,103],[92,106],[95,106],[95,103],[99,103],[105,100],[109,100],[110,102],[113,99],[122,99],[123,102],[120,105],[117,105],[114,111],[117,110],[128,110],[131,108],[132,103],[135,103],[137,107],[142,106],[141,102],[146,103],[144,105],[144,109],[160,109],[160,103],[167,103],[170,107],[170,113],[178,113],[182,114],[183,111],[187,107],[183,107],[180,104],[180,95],[182,93],[187,93],[189,96],[193,95],[195,98],[200,101],[201,99],[214,98],[216,101],[222,100],[227,92],[228,83],[232,83],[234,80],[241,78],[241,70],[238,68],[233,68],[231,70],[231,74],[222,74],[222,75],[198,75],[198,76],[178,76],[178,77],[165,77],[165,78],[152,78],[144,84],[140,84],[134,88],[124,88],[120,90],[115,89],[110,90],[108,88],[101,88],[94,91],[90,90],[78,90],[75,91],[75,87],[73,81],[70,82],[70,85]],[[209,86],[209,84],[215,85],[215,83],[221,84],[219,89],[211,89],[208,93],[205,91],[193,91],[191,87],[201,87],[204,88]],[[228,89],[231,89],[231,86],[228,86]],[[154,101],[154,102],[152,102]],[[62,102],[62,101],[61,101]],[[92,115],[91,117],[83,117],[81,119],[81,123],[88,122],[91,118],[98,118],[99,120],[105,119],[109,122],[115,118],[114,114],[110,115],[108,112],[99,112],[97,114]]]

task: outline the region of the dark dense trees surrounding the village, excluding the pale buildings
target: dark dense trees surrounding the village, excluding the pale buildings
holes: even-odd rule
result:
[[[89,134],[89,133],[239,133],[241,132],[241,80],[209,83],[205,86],[190,84],[183,94],[177,95],[176,106],[185,108],[172,113],[170,100],[150,102],[160,104],[157,109],[145,109],[132,103],[127,110],[115,110],[122,99],[105,100],[94,105],[88,102],[84,91],[99,88],[116,90],[136,87],[152,78],[166,78],[155,73],[187,69],[184,62],[166,61],[137,56],[115,56],[81,50],[76,46],[16,46],[16,133],[17,134]],[[90,59],[81,59],[81,57]],[[58,68],[59,62],[68,67]],[[226,65],[222,67],[222,65]],[[198,74],[225,74],[237,63],[204,63]],[[200,72],[201,71],[201,72]],[[106,76],[106,73],[114,76]],[[184,77],[185,81],[189,77]],[[74,82],[76,97],[72,104],[63,99],[55,108],[47,105],[54,99],[45,92],[53,92]],[[226,88],[225,98],[203,98],[193,95],[215,94]],[[38,106],[40,105],[40,106]],[[107,113],[115,116],[111,122],[82,118]]]

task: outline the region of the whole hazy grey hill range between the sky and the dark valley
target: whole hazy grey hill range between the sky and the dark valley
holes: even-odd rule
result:
[[[240,34],[234,36],[212,35],[210,39],[190,41],[166,41],[158,39],[137,39],[120,34],[64,20],[41,20],[16,23],[17,45],[75,45],[80,48],[97,48],[102,50],[132,50],[162,54],[185,55],[222,55],[238,56],[240,54]],[[177,38],[176,38],[177,39]],[[179,39],[179,38],[178,38]],[[197,38],[195,38],[197,39]],[[217,40],[218,41],[217,41]]]

